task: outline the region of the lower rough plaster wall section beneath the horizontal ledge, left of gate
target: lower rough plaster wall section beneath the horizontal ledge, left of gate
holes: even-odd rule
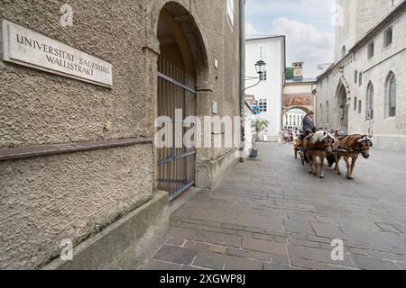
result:
[[[149,201],[151,148],[0,162],[0,268],[36,268]]]

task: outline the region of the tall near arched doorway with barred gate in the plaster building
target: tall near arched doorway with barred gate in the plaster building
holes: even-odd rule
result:
[[[175,2],[161,8],[156,36],[160,44],[157,115],[167,118],[162,125],[169,125],[172,135],[171,145],[157,148],[155,178],[157,188],[167,191],[172,201],[196,183],[197,148],[183,141],[196,122],[186,128],[183,121],[198,115],[197,86],[208,75],[207,55],[192,15]]]

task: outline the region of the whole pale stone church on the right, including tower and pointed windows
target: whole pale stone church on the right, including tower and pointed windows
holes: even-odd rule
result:
[[[406,3],[338,0],[336,60],[318,77],[318,126],[406,150]]]

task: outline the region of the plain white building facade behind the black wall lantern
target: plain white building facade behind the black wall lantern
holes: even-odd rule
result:
[[[264,139],[277,141],[282,127],[282,94],[286,69],[285,37],[274,36],[261,39],[246,40],[245,44],[245,76],[247,87],[258,80],[255,63],[266,62],[265,73],[259,85],[247,89],[247,94],[254,94],[261,106],[261,114],[256,115],[270,122]],[[250,79],[250,77],[252,77]]]

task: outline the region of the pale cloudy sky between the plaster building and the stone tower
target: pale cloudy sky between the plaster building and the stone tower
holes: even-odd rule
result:
[[[335,0],[246,0],[247,38],[285,35],[286,64],[304,62],[304,77],[334,61]]]

